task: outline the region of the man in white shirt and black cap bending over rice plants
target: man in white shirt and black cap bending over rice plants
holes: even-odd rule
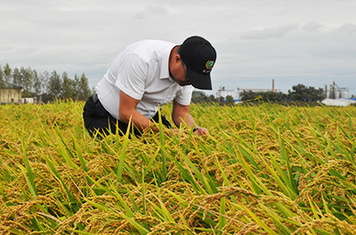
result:
[[[143,40],[129,45],[109,67],[95,87],[96,93],[85,103],[85,127],[93,137],[126,133],[128,123],[134,134],[143,130],[158,132],[158,109],[173,101],[175,126],[185,122],[194,134],[207,135],[190,115],[194,87],[211,90],[210,72],[216,60],[214,47],[200,36],[190,36],[182,45],[158,40]],[[171,124],[161,116],[162,123]],[[178,129],[173,129],[174,133]]]

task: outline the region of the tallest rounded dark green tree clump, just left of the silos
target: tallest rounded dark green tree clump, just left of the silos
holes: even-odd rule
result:
[[[293,85],[293,91],[288,90],[288,100],[290,101],[305,101],[315,102],[325,99],[324,90],[322,88],[315,89],[313,86],[303,84]]]

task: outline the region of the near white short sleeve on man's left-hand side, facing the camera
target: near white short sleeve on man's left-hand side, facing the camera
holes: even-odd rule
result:
[[[147,63],[134,53],[128,54],[121,64],[115,85],[123,93],[141,101],[145,92],[147,73]]]

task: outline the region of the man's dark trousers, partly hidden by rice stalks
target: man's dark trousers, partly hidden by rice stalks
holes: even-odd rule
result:
[[[109,135],[116,134],[117,130],[118,134],[122,136],[125,135],[128,127],[127,124],[118,120],[117,118],[112,117],[109,112],[104,109],[96,93],[89,97],[89,99],[85,102],[83,118],[85,127],[92,137],[94,134],[96,134],[96,132]],[[161,118],[163,125],[168,128],[172,127],[172,125],[168,120],[166,120],[164,116],[161,116]],[[158,113],[156,113],[156,115],[151,119],[158,123]],[[140,136],[142,134],[141,131],[135,127],[133,128],[133,131],[136,136]],[[97,137],[101,139],[100,134],[98,134]]]

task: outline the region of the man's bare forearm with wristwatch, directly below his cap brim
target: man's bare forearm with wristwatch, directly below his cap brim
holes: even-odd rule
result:
[[[209,131],[204,127],[199,127],[195,124],[194,118],[190,115],[190,106],[182,105],[177,101],[173,101],[172,119],[175,126],[181,126],[184,121],[188,126],[192,128],[197,128],[198,130],[194,133],[197,135],[207,135]]]

